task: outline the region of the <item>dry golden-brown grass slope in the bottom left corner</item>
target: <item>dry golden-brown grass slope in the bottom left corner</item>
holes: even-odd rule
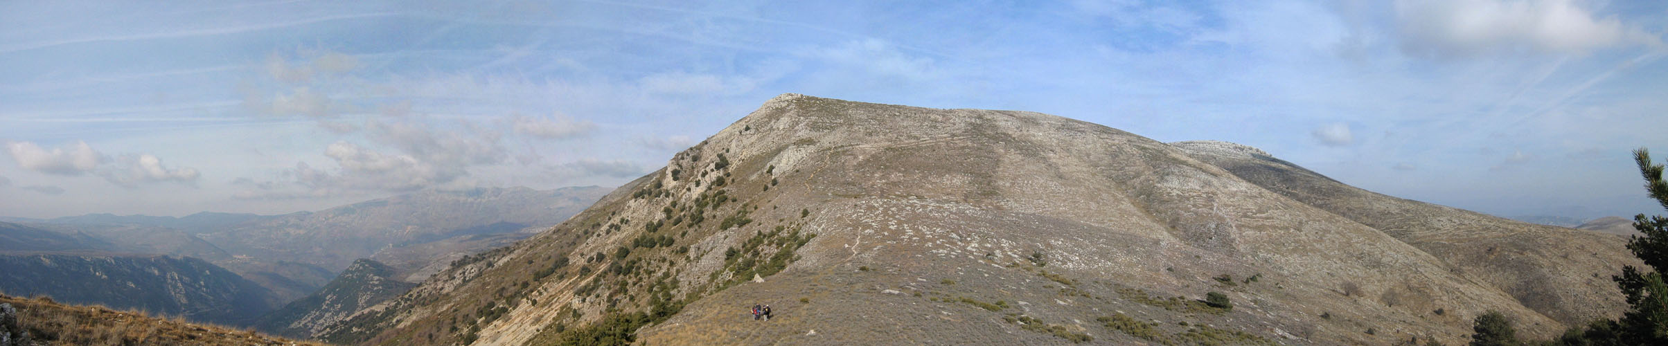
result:
[[[0,294],[0,303],[17,308],[18,324],[40,344],[317,344],[48,298]]]

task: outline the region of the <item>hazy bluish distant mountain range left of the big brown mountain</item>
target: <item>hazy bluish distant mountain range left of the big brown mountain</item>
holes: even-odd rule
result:
[[[420,281],[560,223],[604,193],[479,188],[290,215],[8,218],[22,223],[0,223],[0,291],[249,324],[314,294],[355,260],[384,258],[394,266],[379,264],[379,278]]]

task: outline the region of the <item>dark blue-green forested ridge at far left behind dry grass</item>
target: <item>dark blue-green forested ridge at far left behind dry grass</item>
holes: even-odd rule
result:
[[[272,291],[197,258],[112,253],[0,253],[0,293],[247,324]]]

